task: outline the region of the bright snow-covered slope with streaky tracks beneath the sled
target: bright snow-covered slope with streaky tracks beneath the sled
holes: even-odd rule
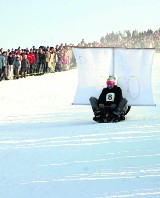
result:
[[[92,121],[76,86],[77,69],[0,82],[0,198],[160,197],[160,55],[156,106],[124,122]]]

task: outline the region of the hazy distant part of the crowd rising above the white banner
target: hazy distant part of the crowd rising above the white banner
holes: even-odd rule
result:
[[[153,31],[130,31],[107,33],[100,38],[100,42],[86,43],[84,39],[79,47],[123,47],[123,48],[155,48],[160,50],[160,28]]]

